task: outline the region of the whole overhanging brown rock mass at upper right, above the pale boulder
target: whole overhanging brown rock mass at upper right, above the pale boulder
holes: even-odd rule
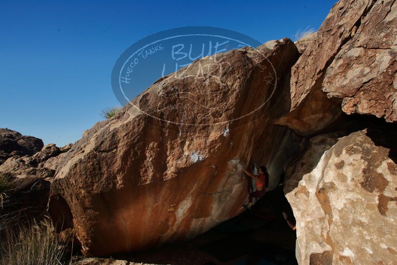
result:
[[[394,0],[338,1],[292,67],[291,111],[277,124],[309,135],[342,111],[396,121],[396,9]]]

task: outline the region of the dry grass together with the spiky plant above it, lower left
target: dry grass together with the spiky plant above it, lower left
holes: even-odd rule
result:
[[[0,265],[65,264],[66,241],[48,217],[37,222],[19,203],[13,179],[0,173]]]

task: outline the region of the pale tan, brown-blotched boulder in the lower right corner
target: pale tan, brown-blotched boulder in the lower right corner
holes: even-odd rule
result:
[[[286,194],[297,220],[300,265],[396,262],[396,137],[366,129],[312,141],[290,171],[297,177],[306,173]],[[296,183],[293,175],[290,186]]]

